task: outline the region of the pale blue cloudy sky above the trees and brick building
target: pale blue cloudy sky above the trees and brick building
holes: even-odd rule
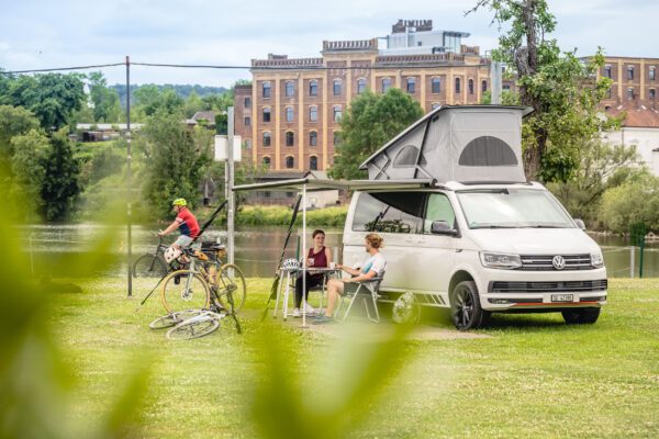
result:
[[[548,0],[561,48],[590,55],[659,57],[659,0]],[[392,3],[392,4],[388,4]],[[395,4],[393,4],[395,3]],[[495,47],[476,0],[0,0],[0,68],[27,70],[123,63],[248,66],[268,53],[319,57],[323,40],[384,36],[399,19],[433,20],[435,30],[469,32],[465,44]],[[384,5],[386,4],[386,5]],[[652,36],[655,35],[655,36]],[[110,83],[125,69],[102,69]],[[133,83],[231,86],[248,70],[134,66]]]

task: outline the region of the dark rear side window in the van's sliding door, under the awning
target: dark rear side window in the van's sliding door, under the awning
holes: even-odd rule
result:
[[[354,232],[421,233],[423,192],[362,193],[353,218]]]

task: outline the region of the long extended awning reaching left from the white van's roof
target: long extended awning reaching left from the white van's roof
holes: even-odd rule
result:
[[[415,189],[434,188],[435,179],[416,180],[319,180],[314,178],[302,178],[293,180],[268,181],[264,183],[241,184],[233,188],[234,191],[255,191],[255,190],[300,190],[306,187],[306,191],[328,191],[336,189],[347,189],[359,191],[364,189]]]

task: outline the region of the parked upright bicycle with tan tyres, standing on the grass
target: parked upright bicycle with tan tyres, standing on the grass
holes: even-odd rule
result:
[[[247,294],[245,277],[233,263],[222,263],[224,246],[211,245],[202,250],[185,249],[190,268],[170,272],[163,280],[160,300],[167,314],[149,324],[166,328],[204,312],[235,314],[243,307]],[[236,319],[237,324],[237,319]]]

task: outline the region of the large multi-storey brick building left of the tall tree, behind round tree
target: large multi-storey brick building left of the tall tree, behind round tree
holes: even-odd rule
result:
[[[400,20],[383,38],[324,41],[319,58],[253,59],[253,83],[235,89],[243,157],[273,173],[327,170],[340,142],[340,117],[367,89],[400,88],[425,112],[481,102],[490,59],[463,45],[467,36],[433,31],[431,20]]]

